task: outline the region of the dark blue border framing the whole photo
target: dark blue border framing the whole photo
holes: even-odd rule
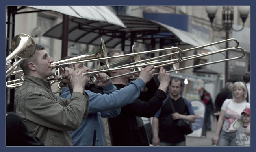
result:
[[[255,15],[255,4],[252,0],[65,0],[65,1],[60,1],[60,0],[5,0],[1,2],[1,9],[0,13],[1,15],[1,20],[6,22],[6,6],[9,5],[134,5],[134,6],[142,6],[142,5],[183,5],[183,6],[204,6],[204,5],[250,5],[251,6],[251,42],[255,42],[254,38],[254,27],[255,27],[255,20],[254,15]],[[2,64],[1,70],[4,71],[4,58],[5,58],[5,50],[6,50],[6,40],[5,40],[5,33],[6,33],[6,24],[2,22],[1,24],[1,31],[2,31],[2,36],[0,37],[0,43],[1,43],[1,49],[2,49],[2,55],[1,55],[1,60]],[[252,45],[253,46],[253,45]],[[251,48],[251,53],[250,56],[253,59],[254,56],[254,49]],[[251,60],[251,77],[254,77],[254,60]],[[115,152],[132,152],[132,151],[139,151],[139,152],[159,152],[159,151],[178,151],[178,152],[191,152],[191,151],[204,151],[204,152],[219,152],[219,151],[232,151],[232,152],[241,152],[241,151],[252,151],[254,148],[254,129],[251,131],[251,147],[196,147],[196,146],[187,146],[187,147],[6,147],[5,146],[5,90],[6,88],[4,87],[5,83],[5,76],[4,72],[1,73],[1,85],[0,87],[3,89],[1,98],[2,98],[2,103],[1,103],[1,136],[0,136],[0,143],[1,143],[1,151],[2,152],[17,152],[17,151],[26,151],[26,152],[51,152],[51,151],[62,151],[62,152],[70,152],[71,150],[80,150],[80,151],[86,151],[86,152],[103,152],[103,151],[115,151]],[[254,79],[251,80],[252,86],[254,86]],[[2,90],[1,89],[1,90]],[[251,92],[253,91],[254,88],[252,87]],[[255,97],[251,96],[251,108],[254,109],[253,107],[255,106],[254,104],[254,99]],[[251,122],[251,128],[254,128],[255,122],[254,120],[254,110],[251,110],[251,115],[252,115],[252,122]]]

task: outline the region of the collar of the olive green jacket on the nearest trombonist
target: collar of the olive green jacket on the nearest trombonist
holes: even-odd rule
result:
[[[50,89],[51,90],[51,85],[50,85],[50,82],[48,81],[44,81],[43,79],[41,78],[38,78],[38,77],[33,77],[33,76],[30,76],[30,75],[25,75],[24,76],[24,81],[26,82],[31,82],[33,84],[36,84],[38,86],[41,86],[42,88],[44,89]]]

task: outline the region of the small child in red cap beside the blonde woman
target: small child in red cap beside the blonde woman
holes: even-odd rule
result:
[[[237,146],[250,146],[250,135],[245,134],[245,130],[250,125],[250,108],[245,108],[241,113],[243,117],[243,125],[237,129],[236,132],[236,145]]]

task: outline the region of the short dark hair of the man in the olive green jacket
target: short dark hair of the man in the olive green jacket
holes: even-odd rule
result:
[[[24,59],[22,63],[20,64],[20,68],[23,70],[24,75],[28,75],[30,69],[28,68],[29,62],[37,63],[37,51],[44,50],[45,47],[41,46],[40,44],[35,44],[35,53],[32,57],[28,59]]]

